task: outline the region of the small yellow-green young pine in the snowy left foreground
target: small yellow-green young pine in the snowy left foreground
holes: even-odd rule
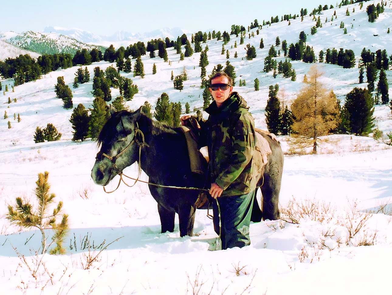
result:
[[[22,200],[21,197],[16,198],[16,208],[8,205],[7,219],[18,226],[25,228],[36,227],[42,234],[42,251],[44,254],[47,250],[45,235],[45,229],[51,228],[54,231],[52,241],[56,243],[56,247],[53,248],[51,254],[64,254],[65,248],[62,244],[64,243],[65,235],[68,232],[68,215],[63,214],[60,223],[56,224],[57,215],[60,215],[63,203],[60,201],[53,210],[53,214],[46,216],[49,206],[53,203],[55,194],[49,194],[50,185],[47,182],[49,172],[44,174],[38,173],[38,180],[36,181],[35,194],[38,200],[38,209],[33,210],[33,206]],[[34,212],[35,211],[35,212]]]

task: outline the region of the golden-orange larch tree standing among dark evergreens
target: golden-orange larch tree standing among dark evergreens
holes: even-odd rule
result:
[[[293,132],[302,136],[303,144],[313,145],[313,152],[317,152],[319,136],[327,135],[339,125],[336,96],[319,82],[322,74],[316,65],[310,67],[307,82],[291,105],[296,118]]]

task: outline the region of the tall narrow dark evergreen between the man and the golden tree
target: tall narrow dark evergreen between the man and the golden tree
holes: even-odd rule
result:
[[[281,108],[280,101],[278,99],[279,85],[270,85],[269,87],[269,99],[267,106],[265,107],[265,121],[267,123],[268,131],[274,134],[278,134],[281,125]]]

